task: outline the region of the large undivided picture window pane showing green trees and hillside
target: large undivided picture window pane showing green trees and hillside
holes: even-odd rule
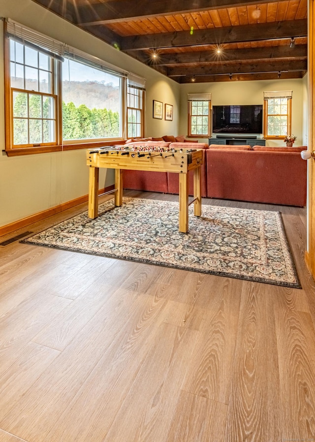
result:
[[[63,63],[63,141],[122,137],[121,78],[83,62]]]

